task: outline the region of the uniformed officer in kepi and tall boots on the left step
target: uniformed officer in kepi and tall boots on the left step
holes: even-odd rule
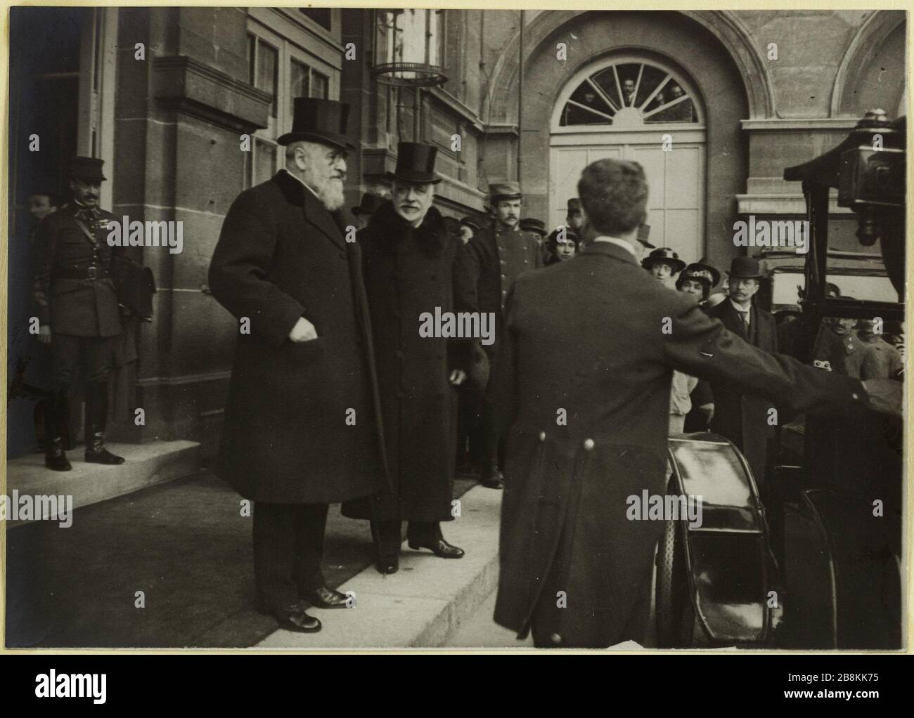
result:
[[[51,399],[47,413],[45,465],[72,467],[64,452],[67,392],[81,367],[86,375],[86,461],[121,464],[105,449],[108,375],[115,337],[121,333],[121,308],[111,275],[108,223],[115,217],[99,208],[105,177],[102,160],[74,157],[69,188],[73,202],[38,225],[35,236],[35,300],[41,343],[51,348]]]

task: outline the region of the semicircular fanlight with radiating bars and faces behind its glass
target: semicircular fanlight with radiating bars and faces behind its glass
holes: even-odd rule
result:
[[[573,90],[560,127],[699,123],[698,102],[682,79],[650,62],[620,61],[588,76]]]

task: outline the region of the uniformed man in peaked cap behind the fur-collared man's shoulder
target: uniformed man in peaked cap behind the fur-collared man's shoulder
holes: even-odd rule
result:
[[[493,367],[498,357],[502,336],[502,312],[511,284],[522,273],[542,266],[542,255],[537,238],[518,227],[521,194],[516,182],[499,182],[489,185],[489,201],[494,221],[476,233],[467,245],[479,311],[494,312],[494,343],[484,345]],[[490,368],[490,371],[492,369]],[[486,410],[483,417],[484,451],[482,466],[483,485],[490,489],[502,488],[498,470],[500,439],[495,433],[493,417]]]

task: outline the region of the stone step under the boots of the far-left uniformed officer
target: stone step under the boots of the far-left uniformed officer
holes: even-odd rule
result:
[[[29,454],[6,462],[7,527],[16,528],[23,520],[12,520],[13,503],[22,506],[26,496],[72,496],[72,508],[78,509],[122,496],[194,473],[199,469],[200,445],[196,441],[153,441],[148,444],[108,444],[112,453],[126,459],[118,466],[87,464],[82,447],[69,451],[73,465],[70,471],[52,471],[45,467],[44,454]],[[17,491],[18,502],[14,502]],[[58,519],[55,504],[45,503],[37,512],[46,520]],[[61,507],[64,509],[64,507]],[[37,513],[36,512],[36,513]]]

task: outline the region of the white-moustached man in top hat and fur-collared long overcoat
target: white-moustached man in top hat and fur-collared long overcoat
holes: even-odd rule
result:
[[[456,400],[472,339],[420,335],[425,312],[474,311],[459,237],[447,231],[433,206],[438,150],[399,143],[397,168],[388,174],[390,201],[358,235],[377,362],[385,446],[393,491],[377,500],[347,502],[343,513],[372,519],[380,544],[377,570],[399,568],[400,523],[408,521],[409,548],[461,558],[444,540],[440,522],[452,521]],[[375,502],[372,515],[371,502]]]

